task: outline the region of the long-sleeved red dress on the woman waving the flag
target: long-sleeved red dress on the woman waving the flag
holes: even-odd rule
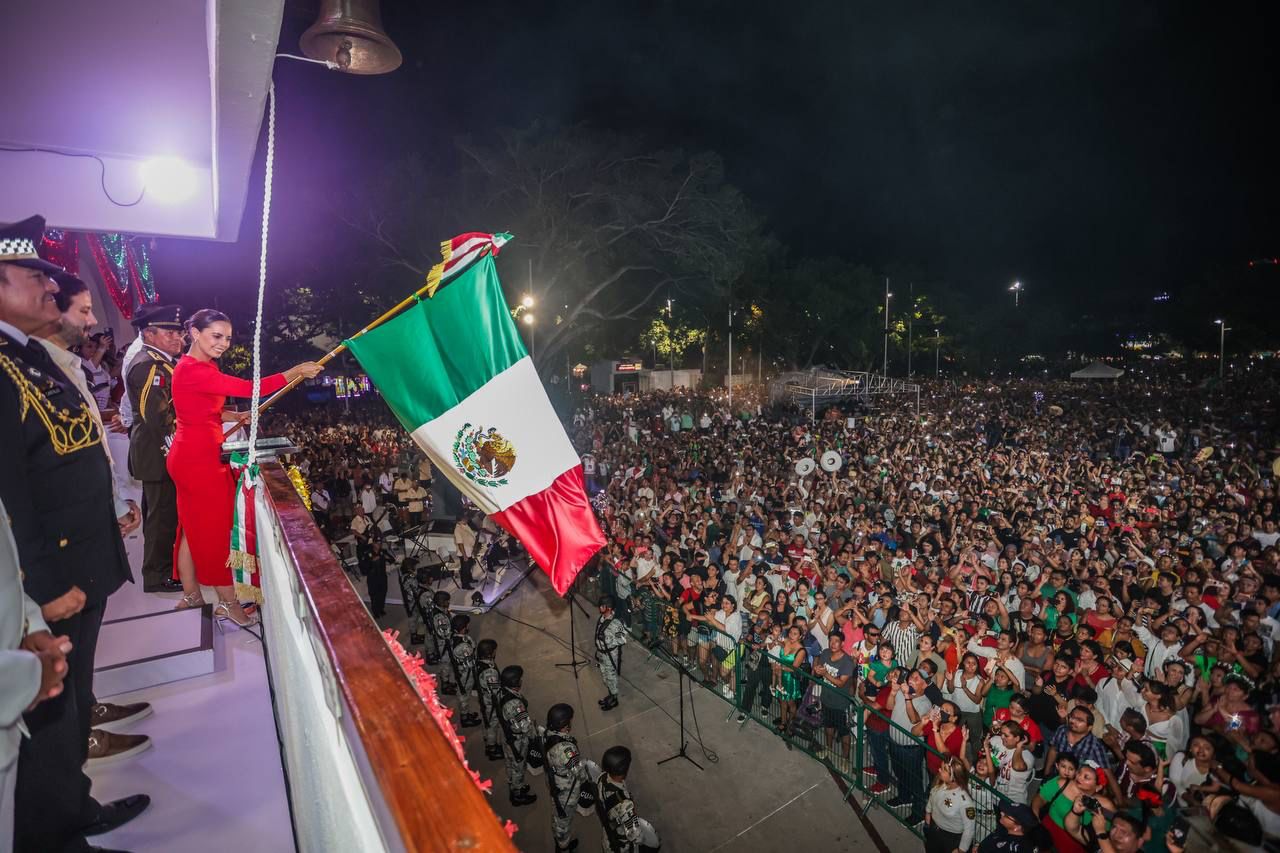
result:
[[[262,396],[288,382],[283,374],[262,377]],[[230,587],[232,511],[236,478],[221,460],[223,403],[228,397],[252,397],[253,383],[224,375],[212,361],[188,355],[173,369],[173,410],[178,432],[165,467],[178,491],[178,537],[173,565],[178,569],[178,546],[187,546],[196,562],[196,579],[206,587]]]

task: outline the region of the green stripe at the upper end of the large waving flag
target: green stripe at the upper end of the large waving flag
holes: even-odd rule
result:
[[[346,343],[411,432],[526,355],[490,256],[434,298]]]

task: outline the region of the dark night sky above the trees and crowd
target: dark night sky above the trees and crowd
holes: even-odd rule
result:
[[[348,240],[328,207],[383,160],[534,120],[717,151],[792,256],[975,297],[1176,291],[1280,254],[1275,4],[933,5],[387,1],[398,72],[276,67],[273,275],[323,275],[311,241]],[[291,4],[280,50],[310,18]],[[260,196],[239,246],[165,241],[161,288],[248,298]]]

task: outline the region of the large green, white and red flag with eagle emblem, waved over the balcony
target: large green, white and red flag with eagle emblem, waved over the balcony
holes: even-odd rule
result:
[[[436,470],[518,538],[563,594],[604,534],[492,254],[346,343]]]

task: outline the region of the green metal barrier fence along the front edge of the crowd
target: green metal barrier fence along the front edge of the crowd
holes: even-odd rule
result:
[[[858,790],[869,806],[884,809],[923,839],[931,777],[947,756],[864,702],[854,692],[864,672],[855,672],[850,685],[838,689],[812,672],[808,653],[796,666],[781,648],[754,651],[714,625],[690,624],[678,603],[636,589],[628,576],[609,566],[580,576],[576,589],[593,603],[603,596],[613,598],[614,615],[654,651],[652,657],[684,666],[694,681],[731,706],[730,717],[742,724],[754,720],[788,748],[822,762],[850,792]],[[744,631],[749,630],[750,615],[744,612],[741,619]],[[982,744],[972,748],[980,752]],[[977,774],[969,776],[969,793],[977,845],[995,831],[998,803],[1009,798]]]

